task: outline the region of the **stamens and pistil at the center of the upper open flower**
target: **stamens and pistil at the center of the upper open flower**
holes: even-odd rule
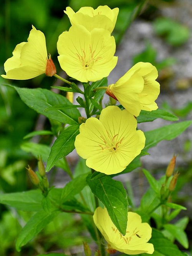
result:
[[[76,54],[78,57],[79,61],[81,62],[82,67],[85,70],[91,69],[93,67],[93,64],[97,62],[101,57],[96,57],[95,55],[95,50],[91,48],[91,45],[89,45],[89,52],[86,54],[84,49],[81,49],[81,54]]]

